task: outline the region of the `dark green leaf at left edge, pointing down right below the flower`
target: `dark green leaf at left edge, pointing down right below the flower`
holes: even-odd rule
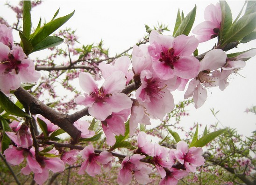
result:
[[[22,111],[18,106],[16,106],[6,95],[0,92],[0,106],[8,113],[14,116],[20,116],[24,118],[31,118],[26,112]]]

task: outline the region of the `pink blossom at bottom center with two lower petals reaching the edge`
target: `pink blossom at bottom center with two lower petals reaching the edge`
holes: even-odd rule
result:
[[[119,185],[128,185],[132,180],[132,174],[139,184],[146,185],[149,183],[149,173],[151,169],[140,160],[145,156],[134,154],[131,157],[125,157],[121,164],[121,170],[118,173],[117,182]]]

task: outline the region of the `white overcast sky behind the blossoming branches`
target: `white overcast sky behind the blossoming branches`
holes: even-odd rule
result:
[[[0,1],[0,16],[10,20],[15,20],[15,14],[4,6],[6,1]],[[169,25],[172,30],[175,25],[178,8],[183,10],[185,15],[197,5],[197,14],[194,26],[204,21],[203,13],[205,7],[210,3],[214,5],[218,1],[140,1],[140,0],[119,0],[119,1],[45,1],[42,5],[33,8],[32,23],[37,23],[42,19],[50,21],[59,7],[58,16],[63,16],[75,10],[74,16],[62,28],[71,27],[77,30],[79,42],[91,44],[104,40],[104,46],[110,48],[110,53],[121,53],[130,46],[133,46],[142,38],[145,32],[144,24],[150,27],[156,26],[157,22]],[[244,1],[227,1],[233,13],[233,20],[242,8]],[[194,27],[193,26],[193,27]],[[199,54],[211,49],[216,39],[199,44]],[[239,49],[233,49],[232,53],[241,52],[252,47],[256,47],[256,41],[251,41],[246,45],[239,45]],[[256,116],[252,113],[245,113],[245,109],[256,105],[256,82],[255,71],[256,57],[247,61],[240,74],[245,76],[233,76],[230,85],[221,92],[219,88],[211,88],[205,105],[196,110],[193,106],[189,107],[190,117],[182,119],[185,128],[189,128],[194,122],[212,124],[217,122],[214,119],[210,108],[220,110],[217,114],[223,126],[237,128],[239,133],[250,136],[256,130]],[[175,102],[183,99],[185,92],[174,92]],[[202,128],[203,129],[203,128]]]

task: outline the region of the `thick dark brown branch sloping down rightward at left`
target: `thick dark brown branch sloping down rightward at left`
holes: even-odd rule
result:
[[[14,95],[23,105],[29,106],[32,114],[41,114],[43,117],[49,119],[52,123],[67,132],[75,142],[78,141],[81,132],[73,125],[74,122],[69,119],[68,114],[63,114],[51,109],[22,87],[18,88]]]

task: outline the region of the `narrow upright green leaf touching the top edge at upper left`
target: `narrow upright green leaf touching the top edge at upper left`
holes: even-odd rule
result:
[[[29,38],[31,32],[31,1],[24,0],[23,1],[23,33],[25,37]]]

